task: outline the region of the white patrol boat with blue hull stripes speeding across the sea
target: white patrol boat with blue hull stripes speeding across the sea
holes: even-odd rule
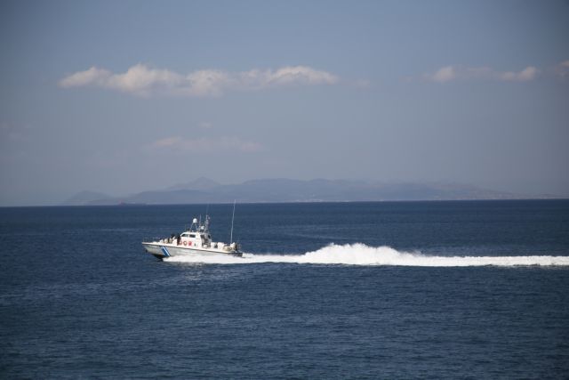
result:
[[[235,212],[235,211],[234,211]],[[200,217],[201,219],[201,217]],[[236,242],[229,244],[213,242],[209,230],[210,217],[205,215],[204,223],[194,218],[188,230],[178,235],[172,234],[169,238],[143,241],[146,251],[162,260],[170,256],[180,255],[233,255],[243,256]],[[231,238],[233,239],[233,221],[231,221]]]

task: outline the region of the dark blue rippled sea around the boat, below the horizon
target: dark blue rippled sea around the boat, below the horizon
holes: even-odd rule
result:
[[[0,208],[1,378],[568,378],[569,200]],[[201,216],[200,216],[201,215]]]

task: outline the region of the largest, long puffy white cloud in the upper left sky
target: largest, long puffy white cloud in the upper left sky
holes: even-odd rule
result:
[[[260,90],[281,85],[334,85],[338,80],[329,72],[308,66],[252,69],[239,73],[204,69],[181,75],[168,69],[150,69],[137,64],[122,74],[92,67],[62,78],[59,85],[64,88],[102,87],[140,96],[220,96],[228,90]]]

